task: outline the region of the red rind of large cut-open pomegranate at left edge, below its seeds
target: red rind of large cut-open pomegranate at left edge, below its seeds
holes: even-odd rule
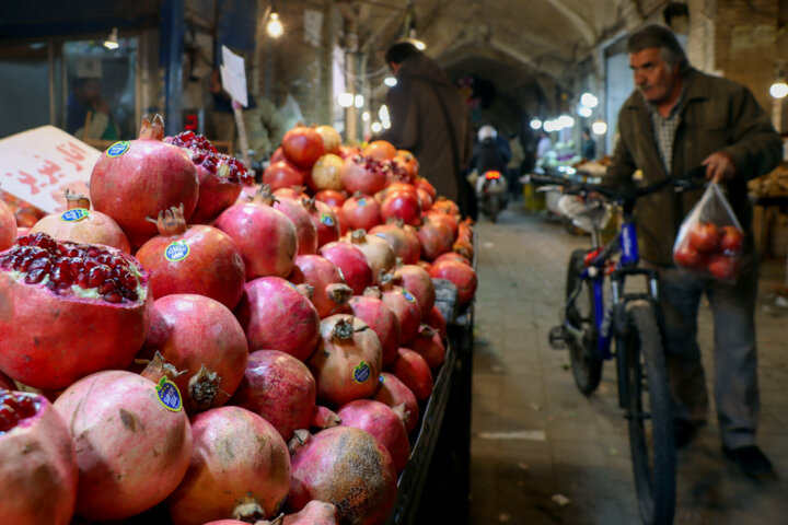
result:
[[[141,271],[143,299],[113,304],[56,295],[0,270],[0,371],[34,388],[57,389],[128,366],[144,341],[153,303]]]

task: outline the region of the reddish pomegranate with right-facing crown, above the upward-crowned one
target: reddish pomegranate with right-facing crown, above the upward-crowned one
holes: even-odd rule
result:
[[[314,289],[312,304],[321,318],[348,311],[345,303],[352,289],[345,284],[339,268],[320,255],[299,255],[288,280],[294,284],[306,283]]]

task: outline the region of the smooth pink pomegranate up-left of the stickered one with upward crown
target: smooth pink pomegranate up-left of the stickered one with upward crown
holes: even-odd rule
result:
[[[279,350],[300,361],[320,338],[320,315],[308,296],[278,277],[248,281],[235,308],[250,351]]]

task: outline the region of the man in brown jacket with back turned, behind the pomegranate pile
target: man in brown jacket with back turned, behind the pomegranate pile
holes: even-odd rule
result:
[[[413,152],[438,195],[455,201],[463,215],[475,218],[475,191],[464,176],[473,142],[465,98],[409,42],[392,45],[385,61],[397,80],[386,95],[392,125],[373,140]]]

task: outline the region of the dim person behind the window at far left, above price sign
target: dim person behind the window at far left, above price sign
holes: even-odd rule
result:
[[[118,140],[120,130],[102,98],[101,79],[74,80],[66,102],[66,131],[82,140]]]

